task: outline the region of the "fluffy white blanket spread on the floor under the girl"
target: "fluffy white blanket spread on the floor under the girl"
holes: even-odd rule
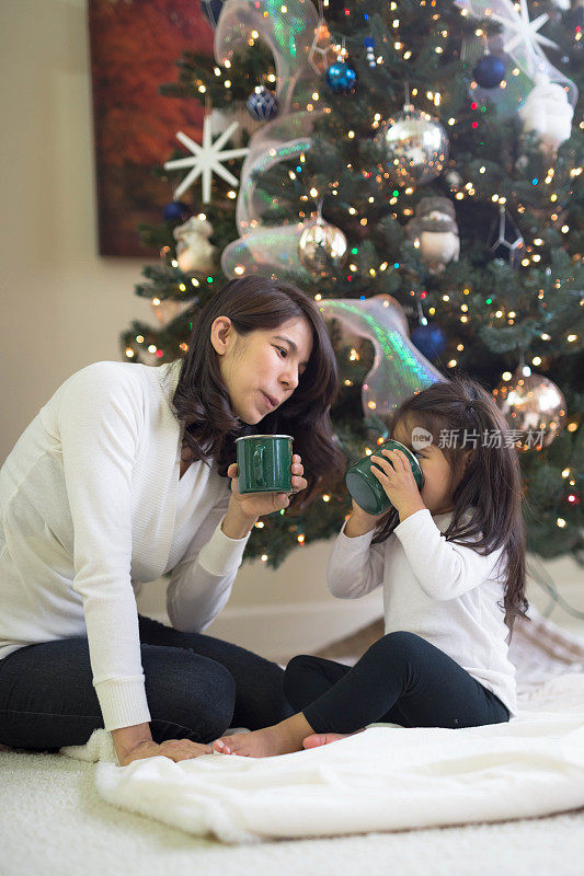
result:
[[[519,713],[462,729],[371,725],[277,758],[116,765],[110,734],[64,754],[100,760],[101,796],[224,842],[329,837],[543,816],[584,806],[584,646],[536,615],[514,634]]]

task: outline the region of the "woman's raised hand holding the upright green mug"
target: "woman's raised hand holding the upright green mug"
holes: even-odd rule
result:
[[[293,493],[299,493],[308,486],[304,473],[302,460],[295,453],[291,461]],[[237,462],[231,463],[227,476],[231,477],[231,498],[221,529],[228,538],[244,538],[259,517],[279,511],[290,504],[287,493],[240,493]]]

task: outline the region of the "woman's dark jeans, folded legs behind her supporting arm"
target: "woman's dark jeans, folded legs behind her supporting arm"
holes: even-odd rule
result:
[[[210,742],[293,714],[284,670],[244,648],[139,616],[154,742]],[[103,718],[87,637],[27,645],[0,660],[0,742],[32,751],[83,745]]]

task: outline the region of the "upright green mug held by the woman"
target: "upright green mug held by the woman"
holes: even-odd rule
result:
[[[240,493],[291,493],[291,435],[236,439]]]

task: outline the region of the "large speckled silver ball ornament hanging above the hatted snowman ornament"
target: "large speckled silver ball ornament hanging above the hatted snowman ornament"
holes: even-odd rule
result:
[[[448,160],[448,136],[427,113],[405,104],[376,135],[383,166],[396,182],[422,185],[438,176]]]

